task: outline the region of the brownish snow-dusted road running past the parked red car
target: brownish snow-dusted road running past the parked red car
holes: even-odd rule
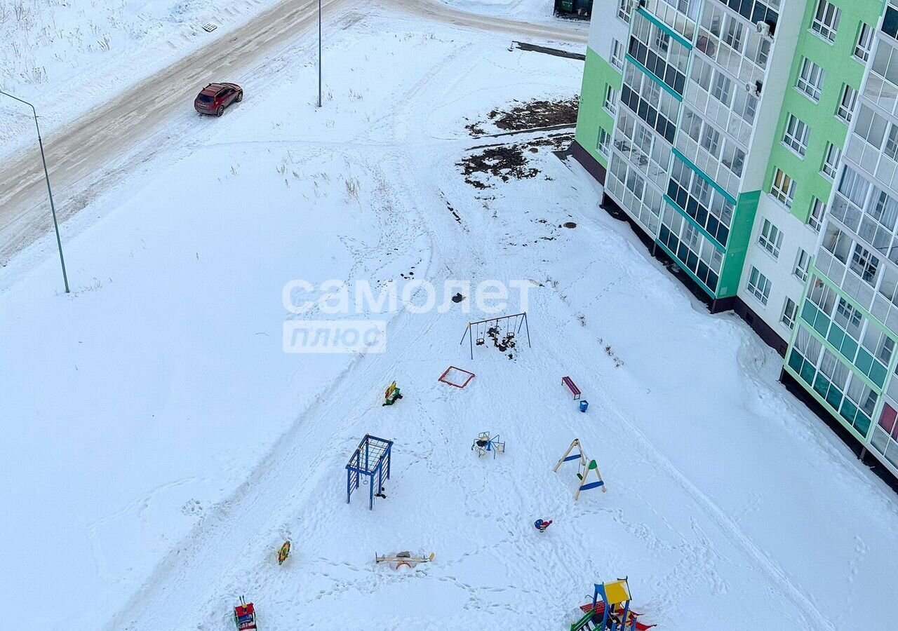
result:
[[[325,13],[330,15],[348,4],[348,0],[323,0]],[[377,0],[377,4],[435,22],[507,32],[518,39],[572,43],[586,40],[582,27],[542,26],[479,16],[454,10],[436,0]],[[304,36],[316,22],[317,2],[290,0],[277,4],[237,31],[147,78],[128,93],[91,110],[56,133],[45,134],[60,221],[75,215],[92,197],[113,184],[121,169],[112,165],[133,153],[173,117],[182,115],[189,108],[197,86],[208,77],[242,74]],[[132,94],[153,94],[154,100],[135,100]],[[151,146],[145,151],[152,154],[159,148]],[[35,145],[0,164],[0,265],[51,227],[47,188]]]

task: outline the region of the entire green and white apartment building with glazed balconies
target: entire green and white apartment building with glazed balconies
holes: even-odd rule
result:
[[[573,146],[603,206],[898,476],[898,0],[603,2]]]

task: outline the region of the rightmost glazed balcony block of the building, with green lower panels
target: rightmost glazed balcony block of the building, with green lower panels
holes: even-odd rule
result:
[[[785,372],[898,475],[898,0],[860,8],[863,71],[837,79],[850,130]],[[846,12],[832,12],[840,31]]]

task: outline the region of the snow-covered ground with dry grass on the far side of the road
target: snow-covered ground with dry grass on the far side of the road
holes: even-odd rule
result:
[[[0,90],[31,101],[52,132],[273,4],[0,0]],[[208,23],[216,30],[204,31]],[[31,110],[22,108],[0,97],[0,156],[35,142]]]

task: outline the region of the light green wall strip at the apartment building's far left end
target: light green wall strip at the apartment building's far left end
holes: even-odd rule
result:
[[[605,169],[608,168],[608,159],[598,151],[599,129],[604,129],[609,136],[614,131],[614,118],[604,108],[605,93],[609,86],[621,92],[622,84],[621,73],[587,47],[575,138],[577,145],[582,146]]]

